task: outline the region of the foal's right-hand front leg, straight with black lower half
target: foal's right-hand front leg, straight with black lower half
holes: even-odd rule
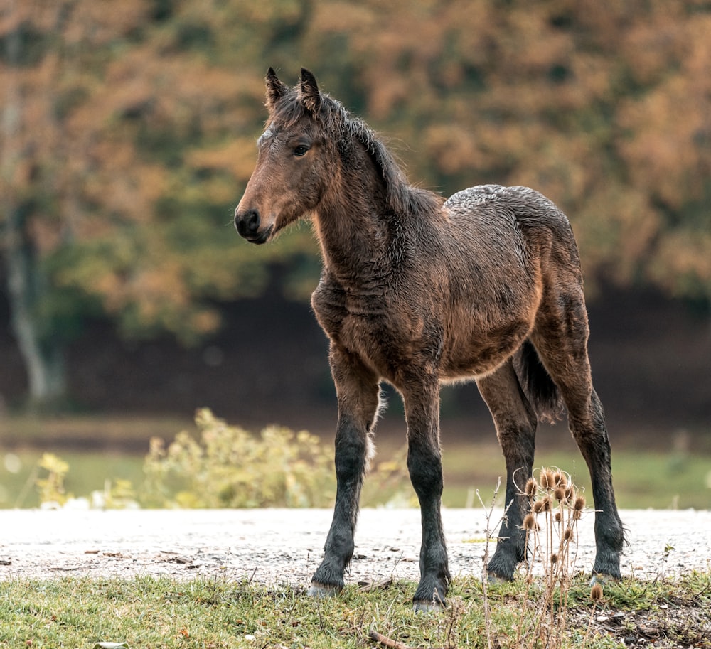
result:
[[[444,606],[451,577],[442,528],[442,453],[439,449],[439,382],[403,392],[407,418],[407,469],[419,499],[422,547],[415,611]]]

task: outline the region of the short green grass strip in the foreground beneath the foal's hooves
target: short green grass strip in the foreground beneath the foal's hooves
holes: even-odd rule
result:
[[[129,649],[355,649],[374,646],[368,639],[372,626],[412,647],[487,647],[478,579],[455,579],[443,613],[413,613],[414,591],[415,584],[407,581],[371,591],[346,586],[337,597],[314,600],[290,587],[218,580],[0,581],[0,647],[91,648],[99,642],[125,642]],[[501,648],[515,636],[512,625],[535,609],[535,596],[521,606],[524,593],[522,579],[488,587],[491,635]],[[634,635],[632,627],[644,620],[663,629],[656,646],[711,646],[700,635],[703,625],[711,623],[710,574],[694,573],[674,583],[606,586],[604,610],[601,604],[596,611],[592,607],[587,579],[581,576],[572,586],[564,647],[619,647],[624,634]],[[663,628],[653,621],[662,608],[677,613],[673,623],[667,614]],[[616,611],[624,613],[617,631],[595,621],[588,628],[591,613],[609,618]],[[690,617],[697,631],[685,628]]]

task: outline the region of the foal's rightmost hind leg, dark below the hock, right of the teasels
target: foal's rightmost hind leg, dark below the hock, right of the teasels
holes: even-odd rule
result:
[[[543,309],[531,340],[560,390],[570,431],[587,463],[595,506],[593,574],[620,579],[624,528],[612,486],[611,449],[604,412],[592,385],[587,355],[588,323],[582,289]]]

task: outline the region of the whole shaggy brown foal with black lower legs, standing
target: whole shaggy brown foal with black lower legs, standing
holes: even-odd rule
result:
[[[592,476],[593,571],[619,578],[623,530],[565,215],[525,187],[477,186],[443,201],[411,186],[375,134],[321,93],[308,70],[292,89],[270,69],[267,109],[235,226],[264,243],[311,215],[324,259],[312,304],[331,342],[338,395],[336,506],[311,593],[343,586],[382,380],[405,403],[407,466],[422,510],[417,608],[441,604],[450,581],[439,513],[442,382],[476,381],[506,458],[508,515],[489,574],[512,579],[524,557],[535,429],[560,414],[562,399]]]

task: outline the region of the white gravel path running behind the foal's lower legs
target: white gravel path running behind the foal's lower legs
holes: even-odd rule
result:
[[[492,525],[501,512],[493,513]],[[629,530],[624,576],[711,570],[711,511],[621,512]],[[481,574],[486,516],[444,510],[451,573]],[[331,510],[6,510],[0,579],[220,576],[307,586],[321,560]],[[579,529],[576,567],[594,556],[593,515]],[[419,510],[366,509],[346,583],[417,580]]]

